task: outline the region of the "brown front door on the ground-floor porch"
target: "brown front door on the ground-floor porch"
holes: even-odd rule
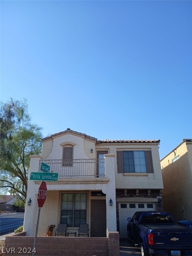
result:
[[[106,234],[106,200],[91,200],[91,237]]]

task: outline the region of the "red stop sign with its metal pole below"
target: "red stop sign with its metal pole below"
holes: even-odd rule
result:
[[[34,239],[34,244],[33,244],[33,254],[32,254],[32,256],[34,256],[34,254],[35,254],[37,231],[38,231],[38,226],[39,226],[39,216],[40,216],[41,207],[43,207],[43,204],[45,203],[46,196],[47,196],[47,186],[46,186],[45,181],[42,181],[41,185],[39,187],[39,192],[38,192],[38,197],[37,197],[39,211],[38,211],[38,216],[37,216],[37,225],[36,225],[36,230],[35,230],[35,239]]]

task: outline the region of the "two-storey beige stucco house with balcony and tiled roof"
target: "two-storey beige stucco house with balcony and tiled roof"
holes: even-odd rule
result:
[[[31,205],[26,204],[24,218],[27,236],[35,234],[41,184],[30,180],[30,175],[40,172],[42,162],[59,179],[46,181],[38,236],[46,236],[51,224],[57,229],[59,223],[67,223],[68,232],[77,232],[80,223],[87,223],[91,237],[119,231],[123,238],[127,237],[127,217],[135,211],[163,210],[159,140],[97,140],[68,128],[42,142],[42,155],[30,157],[26,201],[30,198]]]

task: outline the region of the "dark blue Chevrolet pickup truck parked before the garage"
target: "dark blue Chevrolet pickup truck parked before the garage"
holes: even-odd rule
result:
[[[142,256],[192,256],[192,229],[175,224],[171,214],[140,211],[127,221],[128,239]]]

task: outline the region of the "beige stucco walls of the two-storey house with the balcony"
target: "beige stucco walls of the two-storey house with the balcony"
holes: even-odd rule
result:
[[[159,148],[156,143],[144,144],[96,144],[94,140],[85,138],[82,135],[65,133],[53,136],[43,141],[42,155],[32,156],[30,160],[29,177],[31,172],[39,171],[39,160],[58,160],[62,159],[63,146],[73,145],[73,159],[92,159],[96,158],[96,151],[108,150],[105,155],[106,178],[59,178],[57,182],[46,182],[47,198],[44,206],[41,208],[38,236],[46,236],[48,226],[60,223],[61,213],[61,194],[71,191],[85,191],[87,193],[87,223],[90,223],[90,191],[102,190],[106,194],[106,221],[108,232],[117,231],[116,225],[116,189],[162,189],[162,174],[160,168]],[[93,153],[91,153],[93,149]],[[154,173],[132,174],[125,176],[117,173],[117,150],[151,150]],[[28,181],[27,201],[31,198],[31,206],[26,205],[24,218],[24,231],[27,236],[35,234],[38,204],[37,194],[40,181]],[[113,200],[113,206],[109,206],[110,198]],[[54,229],[54,232],[55,232]]]

